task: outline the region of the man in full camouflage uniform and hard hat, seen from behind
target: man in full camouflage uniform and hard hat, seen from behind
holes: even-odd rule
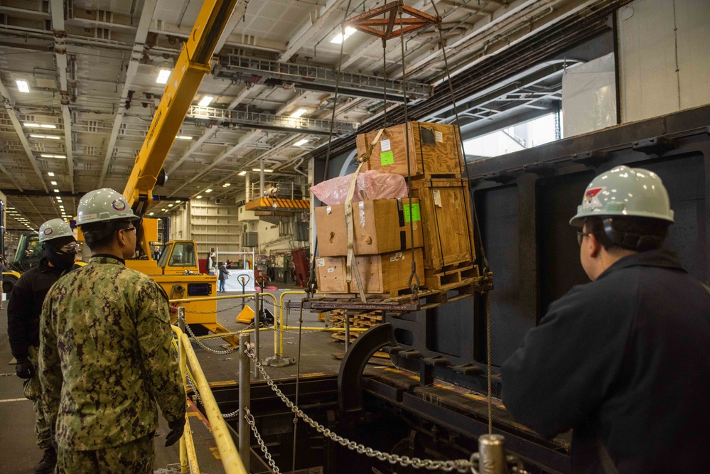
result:
[[[166,446],[183,434],[185,391],[168,298],[125,266],[140,224],[120,193],[84,195],[77,225],[91,260],[45,299],[39,367],[56,424],[58,473],[153,473],[155,402],[171,430]]]

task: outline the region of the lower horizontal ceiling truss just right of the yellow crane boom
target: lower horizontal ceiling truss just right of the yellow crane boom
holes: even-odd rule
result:
[[[244,125],[252,129],[315,135],[328,135],[330,133],[330,120],[306,119],[303,117],[279,117],[278,115],[272,114],[215,109],[213,107],[199,107],[195,105],[190,107],[187,117],[191,119],[217,120],[217,122],[221,122],[222,124]],[[352,134],[355,132],[355,129],[355,124],[350,122],[333,123],[333,134],[335,135]]]

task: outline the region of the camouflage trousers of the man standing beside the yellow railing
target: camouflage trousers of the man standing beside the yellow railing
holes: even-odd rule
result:
[[[153,434],[94,451],[74,451],[60,446],[55,474],[152,474],[154,460]]]

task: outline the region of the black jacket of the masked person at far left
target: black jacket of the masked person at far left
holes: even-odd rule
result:
[[[7,306],[7,334],[12,355],[17,359],[27,357],[27,348],[39,347],[39,319],[42,303],[52,285],[63,274],[77,269],[73,265],[67,271],[49,266],[46,257],[20,276],[15,284]]]

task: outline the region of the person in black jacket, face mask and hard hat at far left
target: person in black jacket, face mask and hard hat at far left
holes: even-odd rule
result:
[[[52,219],[40,226],[39,242],[44,257],[20,276],[10,293],[7,307],[7,333],[12,355],[17,360],[17,376],[25,379],[23,392],[35,411],[37,444],[44,451],[33,473],[51,473],[57,463],[53,443],[53,426],[45,419],[41,387],[37,371],[40,345],[40,315],[47,292],[60,276],[79,268],[75,264],[78,244],[71,227],[61,219]]]

